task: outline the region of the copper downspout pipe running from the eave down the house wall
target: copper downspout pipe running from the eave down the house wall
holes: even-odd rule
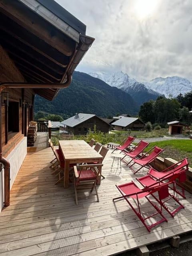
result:
[[[67,88],[72,81],[72,75],[67,76],[65,83],[27,84],[18,82],[0,83],[0,163],[4,165],[4,207],[10,205],[10,162],[2,156],[2,90],[5,88]]]

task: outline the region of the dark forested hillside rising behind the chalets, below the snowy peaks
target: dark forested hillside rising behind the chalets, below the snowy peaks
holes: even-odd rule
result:
[[[72,83],[61,89],[53,101],[40,96],[35,98],[35,112],[72,116],[76,112],[113,116],[116,113],[138,113],[138,105],[122,90],[82,72],[74,72]]]

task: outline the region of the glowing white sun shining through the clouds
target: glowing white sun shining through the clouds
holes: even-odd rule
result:
[[[143,20],[152,16],[158,5],[158,0],[138,0],[134,4],[134,13]]]

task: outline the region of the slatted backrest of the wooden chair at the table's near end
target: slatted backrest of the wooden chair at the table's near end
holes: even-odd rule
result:
[[[77,166],[78,181],[97,180],[103,164],[82,164]],[[74,166],[76,168],[76,166]]]

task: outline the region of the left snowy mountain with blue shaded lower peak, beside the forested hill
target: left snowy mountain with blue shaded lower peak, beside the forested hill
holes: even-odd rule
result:
[[[131,78],[128,74],[123,73],[122,71],[114,74],[95,72],[89,73],[89,75],[103,80],[110,86],[115,86],[124,92],[128,92],[138,104],[142,104],[149,100],[156,100],[158,96],[162,95],[147,88],[144,83],[137,82],[134,78]]]

